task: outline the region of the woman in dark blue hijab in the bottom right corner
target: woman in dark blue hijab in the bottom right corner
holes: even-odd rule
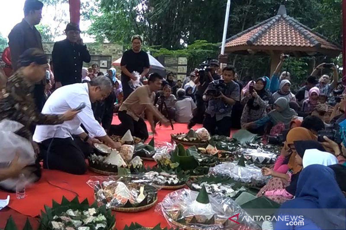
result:
[[[304,226],[299,229],[345,229],[346,199],[340,190],[332,169],[313,164],[300,173],[295,199],[282,204],[277,214],[303,216]],[[275,215],[277,216],[277,215]],[[275,230],[297,229],[278,218]]]

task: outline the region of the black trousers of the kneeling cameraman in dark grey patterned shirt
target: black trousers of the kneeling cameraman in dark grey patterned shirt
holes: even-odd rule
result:
[[[203,128],[206,128],[213,135],[229,137],[231,134],[231,117],[224,117],[216,121],[216,116],[211,117],[208,113],[204,117]]]

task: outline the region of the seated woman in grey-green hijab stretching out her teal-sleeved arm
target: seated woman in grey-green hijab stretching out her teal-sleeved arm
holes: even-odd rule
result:
[[[284,124],[286,128],[289,127],[291,120],[294,116],[297,116],[297,113],[290,108],[286,98],[279,98],[274,103],[275,109],[270,111],[263,118],[249,122],[243,125],[243,129],[249,128],[259,128],[268,123],[271,123],[273,126],[277,124]]]

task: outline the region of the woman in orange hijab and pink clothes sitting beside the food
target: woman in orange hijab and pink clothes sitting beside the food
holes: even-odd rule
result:
[[[293,185],[294,181],[297,179],[298,173],[302,169],[302,158],[304,155],[304,151],[299,151],[300,155],[297,153],[295,148],[295,142],[297,141],[312,141],[316,140],[317,137],[313,135],[309,130],[305,128],[293,128],[291,129],[286,137],[285,147],[288,148],[288,151],[285,151],[286,154],[281,154],[280,157],[275,162],[274,169],[263,168],[262,173],[264,176],[272,176],[268,183],[257,193],[257,196],[265,195],[271,200],[282,203],[286,200],[292,199],[294,196],[294,189],[292,187],[288,187],[290,184]],[[316,144],[317,143],[317,144]],[[321,144],[318,142],[306,142],[306,148],[316,148],[320,150],[324,150]],[[299,148],[301,150],[301,148]],[[287,158],[293,157],[294,162],[297,166],[299,166],[299,170],[297,172],[293,172],[289,170],[286,164],[284,164]],[[286,172],[279,172],[278,168],[285,168]]]

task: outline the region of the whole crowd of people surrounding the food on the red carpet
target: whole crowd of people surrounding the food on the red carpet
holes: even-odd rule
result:
[[[19,122],[16,134],[30,143],[35,155],[28,164],[19,160],[21,152],[12,151],[8,168],[0,169],[1,189],[13,191],[12,179],[23,169],[28,179],[39,179],[41,161],[45,169],[84,174],[94,143],[119,149],[120,143],[109,136],[127,130],[146,140],[145,119],[153,133],[158,122],[187,123],[188,128],[201,123],[211,135],[229,137],[231,128],[242,128],[281,137],[281,154],[273,168],[262,169],[270,179],[257,196],[283,204],[282,215],[293,208],[328,209],[304,213],[316,227],[312,229],[345,226],[345,214],[329,210],[346,208],[346,100],[334,64],[319,64],[295,94],[290,81],[294,73],[280,73],[284,54],[271,78],[259,76],[245,84],[233,66],[220,68],[217,60],[210,60],[208,68],[177,80],[173,73],[148,74],[148,54],[135,35],[122,56],[119,79],[115,68],[107,73],[98,64],[83,68],[91,57],[74,23],[67,24],[66,39],[55,43],[48,64],[35,28],[42,7],[38,0],[25,2],[25,17],[9,34],[3,54],[0,121]],[[121,123],[112,125],[115,112]],[[275,229],[291,227],[278,221]]]

